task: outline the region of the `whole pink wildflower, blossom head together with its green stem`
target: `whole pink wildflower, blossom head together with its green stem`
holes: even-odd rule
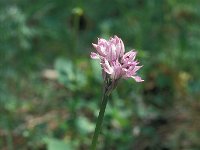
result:
[[[117,36],[111,37],[109,40],[99,38],[98,43],[92,45],[97,52],[91,52],[90,57],[100,60],[104,79],[102,104],[91,144],[91,150],[96,150],[108,96],[116,88],[118,81],[121,78],[133,78],[136,82],[142,82],[144,80],[137,75],[137,71],[142,67],[135,60],[137,52],[131,50],[125,53],[124,43],[120,38]]]

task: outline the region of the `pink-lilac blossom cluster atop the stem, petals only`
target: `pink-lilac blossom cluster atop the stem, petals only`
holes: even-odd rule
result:
[[[124,43],[120,38],[117,36],[109,40],[99,38],[98,44],[93,46],[97,53],[92,52],[91,58],[100,59],[104,78],[108,74],[112,81],[120,78],[133,78],[136,82],[144,81],[136,75],[142,67],[138,66],[139,62],[135,60],[137,52],[131,50],[125,53]]]

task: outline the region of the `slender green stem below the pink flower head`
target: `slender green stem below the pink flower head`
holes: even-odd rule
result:
[[[100,112],[99,112],[99,116],[97,118],[96,128],[95,128],[94,135],[92,138],[92,145],[91,145],[90,150],[96,150],[97,140],[98,140],[99,133],[101,131],[101,125],[103,122],[107,102],[108,102],[108,96],[107,96],[106,90],[104,90],[103,97],[102,97],[102,103],[101,103],[101,107],[100,107]]]

